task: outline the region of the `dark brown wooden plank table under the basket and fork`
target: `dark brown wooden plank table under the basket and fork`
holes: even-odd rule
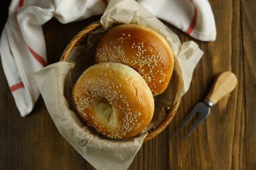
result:
[[[216,20],[215,42],[194,40],[167,24],[182,42],[198,43],[204,55],[173,121],[160,135],[143,144],[129,170],[256,169],[256,1],[209,2]],[[78,31],[99,19],[95,16],[65,25],[56,19],[47,22],[43,30],[48,64],[59,60]],[[1,19],[1,26],[3,23]],[[0,170],[94,170],[60,135],[42,97],[29,116],[20,116],[0,65]],[[223,71],[235,73],[237,87],[180,141],[195,119],[177,136],[175,131]]]

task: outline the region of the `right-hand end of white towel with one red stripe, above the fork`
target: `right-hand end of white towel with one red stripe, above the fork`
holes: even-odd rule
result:
[[[155,17],[201,41],[216,39],[216,25],[208,0],[137,0]]]

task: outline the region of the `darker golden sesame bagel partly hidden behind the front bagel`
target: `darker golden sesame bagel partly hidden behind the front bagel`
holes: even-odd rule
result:
[[[173,53],[166,40],[139,24],[121,24],[100,40],[96,63],[119,62],[134,68],[145,79],[153,95],[163,93],[173,73]]]

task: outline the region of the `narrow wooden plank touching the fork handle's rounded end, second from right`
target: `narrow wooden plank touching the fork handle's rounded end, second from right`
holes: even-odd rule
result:
[[[245,100],[244,100],[244,59],[243,59],[243,38],[241,27],[241,4],[236,0],[233,2],[233,19],[232,19],[232,70],[238,77],[238,88],[236,88],[236,100],[234,106],[235,126],[234,141],[232,146],[232,169],[246,169],[242,163],[243,160],[243,142],[245,134]],[[239,97],[240,96],[240,97]]]

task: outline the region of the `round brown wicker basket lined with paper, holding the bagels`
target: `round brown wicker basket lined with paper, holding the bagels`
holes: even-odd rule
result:
[[[77,33],[74,38],[69,42],[66,49],[64,50],[63,54],[61,55],[60,61],[66,61],[67,56],[72,51],[72,49],[75,46],[87,46],[87,39],[88,35],[91,31],[99,28],[101,26],[100,22],[93,22],[92,24],[86,26],[84,29],[82,29],[79,33]],[[179,99],[172,107],[166,106],[164,108],[164,112],[166,114],[166,117],[164,121],[161,122],[158,126],[148,130],[148,135],[145,137],[143,142],[146,142],[155,136],[157,136],[160,132],[162,132],[166,126],[172,121],[173,117],[175,116],[175,113],[177,112],[178,107],[180,106],[180,100]]]

